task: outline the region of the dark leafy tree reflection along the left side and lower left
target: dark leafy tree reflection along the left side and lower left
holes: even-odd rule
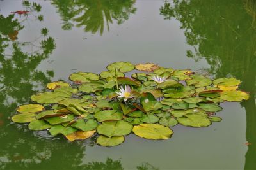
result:
[[[26,8],[31,7],[24,2]],[[120,160],[110,158],[83,164],[86,146],[94,145],[93,138],[69,143],[59,136],[52,139],[46,131],[31,132],[26,125],[10,124],[8,117],[17,106],[28,103],[29,97],[51,80],[52,71],[44,73],[37,67],[56,47],[45,28],[36,41],[19,41],[19,32],[26,28],[20,20],[26,24],[31,21],[29,16],[17,20],[15,15],[0,15],[0,169],[124,169]],[[28,46],[34,50],[28,51]]]

